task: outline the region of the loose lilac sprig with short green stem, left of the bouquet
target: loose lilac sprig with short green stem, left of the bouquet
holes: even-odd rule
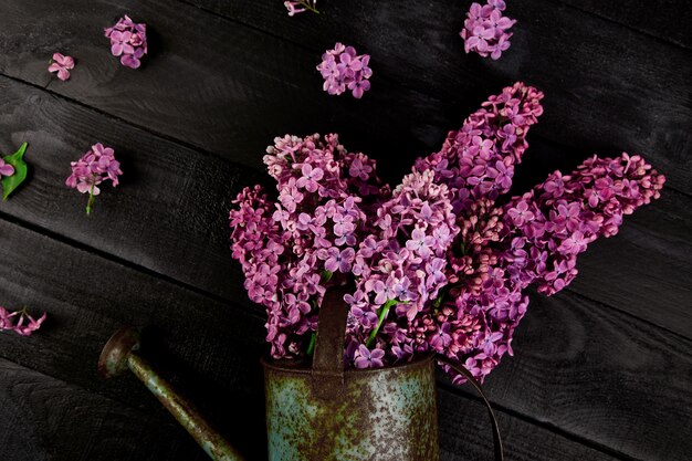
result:
[[[120,164],[115,159],[115,153],[111,147],[104,147],[97,143],[77,161],[72,161],[72,175],[65,180],[65,185],[77,189],[82,193],[88,192],[86,214],[92,211],[94,197],[101,193],[98,185],[109,180],[113,187],[118,185],[118,177],[123,174]]]

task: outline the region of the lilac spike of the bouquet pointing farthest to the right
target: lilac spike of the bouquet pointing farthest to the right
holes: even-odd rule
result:
[[[504,207],[504,259],[522,287],[554,294],[577,275],[577,255],[618,233],[625,214],[660,197],[665,178],[638,155],[594,156],[569,176],[559,171]]]

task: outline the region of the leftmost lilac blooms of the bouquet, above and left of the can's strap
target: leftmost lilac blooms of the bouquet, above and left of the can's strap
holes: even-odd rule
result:
[[[272,356],[305,353],[327,281],[352,273],[367,216],[388,196],[375,161],[348,153],[336,135],[274,139],[264,157],[276,200],[245,188],[230,212],[233,258],[250,298],[266,307]]]

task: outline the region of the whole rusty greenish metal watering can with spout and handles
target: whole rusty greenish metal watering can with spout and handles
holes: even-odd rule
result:
[[[432,354],[377,369],[344,369],[349,306],[345,289],[327,291],[312,366],[262,360],[270,461],[439,461],[434,359],[463,374],[481,395],[493,426],[495,459],[503,448],[493,410],[463,367]],[[139,334],[125,327],[98,359],[105,377],[130,369],[205,451],[219,461],[244,461],[200,412],[137,354]]]

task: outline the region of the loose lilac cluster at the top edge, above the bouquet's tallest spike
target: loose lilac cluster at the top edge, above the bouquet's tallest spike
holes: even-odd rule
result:
[[[487,3],[471,3],[464,28],[460,35],[466,53],[475,52],[483,57],[499,60],[510,49],[512,32],[507,32],[516,20],[503,17],[504,0],[487,0]]]

